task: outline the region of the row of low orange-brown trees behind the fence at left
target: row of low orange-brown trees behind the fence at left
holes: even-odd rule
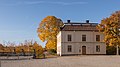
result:
[[[36,50],[36,54],[43,53],[42,46],[33,40],[25,40],[20,44],[15,44],[12,42],[6,42],[4,45],[0,44],[0,52],[16,52],[19,54],[23,50],[25,53],[33,53],[34,49]]]

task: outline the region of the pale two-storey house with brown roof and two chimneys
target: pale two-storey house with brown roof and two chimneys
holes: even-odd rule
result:
[[[106,54],[104,35],[96,28],[97,23],[64,23],[57,35],[57,54],[88,55]]]

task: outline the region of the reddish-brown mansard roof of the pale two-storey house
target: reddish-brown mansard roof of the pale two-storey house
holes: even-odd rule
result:
[[[61,31],[98,31],[98,23],[64,23]]]

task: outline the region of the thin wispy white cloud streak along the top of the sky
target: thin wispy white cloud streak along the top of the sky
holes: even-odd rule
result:
[[[88,2],[61,2],[61,1],[19,1],[16,3],[2,3],[0,5],[16,6],[16,5],[36,5],[36,4],[53,4],[53,5],[82,5]]]

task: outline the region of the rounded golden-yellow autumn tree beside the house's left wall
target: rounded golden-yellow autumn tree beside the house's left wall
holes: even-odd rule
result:
[[[55,49],[57,45],[57,34],[60,30],[60,26],[63,25],[61,19],[55,16],[45,17],[37,29],[40,40],[46,43],[46,49]]]

